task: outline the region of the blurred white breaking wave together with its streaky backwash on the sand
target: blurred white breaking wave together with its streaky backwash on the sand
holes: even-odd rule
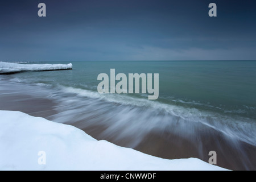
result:
[[[247,163],[253,163],[247,157],[250,156],[247,147],[256,146],[254,119],[196,109],[189,105],[180,106],[175,102],[167,104],[160,100],[150,101],[133,94],[100,94],[90,89],[64,86],[51,81],[32,81],[33,86],[25,79],[15,78],[11,81],[16,82],[18,88],[24,88],[19,85],[20,81],[26,82],[28,88],[23,90],[27,94],[53,100],[56,114],[49,119],[88,131],[94,138],[109,140],[125,147],[138,147],[141,151],[139,147],[154,142],[156,137],[160,138],[156,150],[177,150],[179,154],[175,156],[178,158],[180,155],[187,156],[183,147],[188,145],[195,147],[193,151],[197,151],[201,159],[210,150],[217,150],[218,156],[223,155],[223,158],[226,152],[234,151],[235,155],[232,156],[248,159],[248,162],[241,161],[241,165],[246,167]],[[174,146],[163,148],[171,144]],[[148,150],[148,154],[162,157],[162,153],[155,154],[154,149]]]

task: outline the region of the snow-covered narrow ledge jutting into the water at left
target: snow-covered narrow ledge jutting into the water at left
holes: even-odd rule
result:
[[[72,64],[18,64],[0,61],[0,74],[24,71],[53,71],[62,69],[72,69]]]

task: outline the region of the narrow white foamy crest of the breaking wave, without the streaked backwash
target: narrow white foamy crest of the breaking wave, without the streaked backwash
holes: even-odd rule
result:
[[[126,94],[100,94],[98,92],[86,89],[66,86],[60,86],[60,88],[65,93],[77,94],[77,96],[98,98],[106,102],[132,107],[146,107],[152,111],[163,111],[164,113],[168,113],[177,119],[180,118],[185,122],[202,123],[203,125],[221,132],[230,138],[243,140],[244,142],[253,144],[255,146],[255,138],[252,136],[255,136],[253,130],[255,129],[256,125],[248,118],[229,118],[225,115],[212,113],[209,111],[201,111],[195,108],[164,104],[159,101],[150,101],[145,98],[127,96]],[[147,124],[149,125],[149,123]],[[240,128],[240,130],[238,131],[236,128]]]

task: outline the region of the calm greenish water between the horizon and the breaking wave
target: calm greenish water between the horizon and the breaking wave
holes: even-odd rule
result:
[[[115,69],[115,75],[125,73],[127,77],[128,73],[159,73],[156,102],[256,119],[256,61],[85,61],[72,64],[71,71],[26,72],[13,77],[97,92],[98,74],[107,73],[110,77],[111,68]],[[147,98],[147,94],[126,96]]]

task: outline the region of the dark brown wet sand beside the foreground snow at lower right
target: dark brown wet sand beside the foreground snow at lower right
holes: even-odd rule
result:
[[[83,130],[98,140],[105,139],[118,146],[127,147],[131,141],[129,138],[116,140],[115,135],[102,138],[101,132],[104,131],[102,126],[90,126]],[[240,142],[237,145],[243,150],[237,151],[232,141],[226,140],[219,133],[204,134],[199,138],[199,142],[195,142],[180,135],[152,131],[134,149],[164,159],[199,158],[205,162],[208,162],[210,158],[209,151],[216,151],[217,166],[232,170],[256,169],[255,146]]]

